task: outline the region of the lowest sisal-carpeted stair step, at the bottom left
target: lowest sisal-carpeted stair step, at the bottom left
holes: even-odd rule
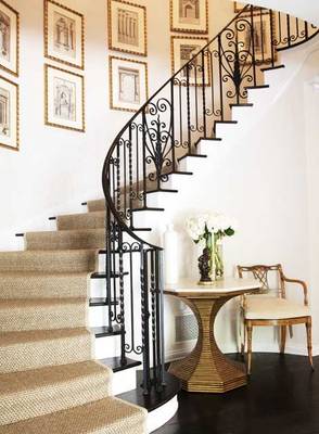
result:
[[[0,434],[144,434],[148,412],[118,398],[0,426]]]

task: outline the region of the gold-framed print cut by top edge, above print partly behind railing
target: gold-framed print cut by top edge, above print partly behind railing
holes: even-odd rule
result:
[[[208,33],[208,0],[170,0],[170,30]]]

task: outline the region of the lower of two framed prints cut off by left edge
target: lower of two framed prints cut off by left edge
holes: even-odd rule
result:
[[[18,86],[0,77],[0,146],[18,151]]]

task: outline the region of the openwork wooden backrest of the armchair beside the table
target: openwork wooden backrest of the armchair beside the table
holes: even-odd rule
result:
[[[280,264],[277,265],[252,265],[252,266],[241,266],[238,267],[239,277],[243,278],[245,273],[253,275],[255,279],[259,280],[261,283],[260,293],[267,294],[276,292],[277,296],[285,298],[285,286],[282,279],[283,272]],[[269,273],[277,275],[276,286],[271,288],[269,284]]]

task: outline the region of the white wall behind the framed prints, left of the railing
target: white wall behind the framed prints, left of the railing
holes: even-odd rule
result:
[[[0,250],[18,247],[15,232],[46,225],[49,228],[49,216],[79,212],[81,202],[102,197],[101,170],[106,151],[131,116],[109,108],[106,0],[63,1],[86,18],[86,133],[44,126],[43,1],[9,3],[21,14],[21,151],[0,148]],[[139,3],[148,7],[152,94],[171,75],[169,0]],[[209,0],[210,36],[232,14],[232,4],[227,0],[222,9],[216,3],[220,2]]]

